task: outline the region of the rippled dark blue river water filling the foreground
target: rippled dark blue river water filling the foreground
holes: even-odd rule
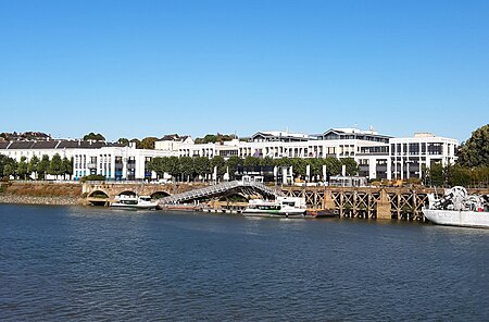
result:
[[[487,321],[489,230],[0,206],[1,321]]]

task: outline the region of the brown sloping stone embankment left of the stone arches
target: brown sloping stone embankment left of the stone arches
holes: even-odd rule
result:
[[[0,203],[84,205],[82,185],[50,183],[2,183]]]

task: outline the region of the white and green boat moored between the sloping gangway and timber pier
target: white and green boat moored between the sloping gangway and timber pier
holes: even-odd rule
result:
[[[298,197],[277,197],[275,200],[252,199],[242,214],[247,216],[303,218],[305,199]]]

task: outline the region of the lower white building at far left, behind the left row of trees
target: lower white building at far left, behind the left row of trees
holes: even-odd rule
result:
[[[177,157],[175,151],[136,149],[131,144],[83,140],[4,141],[0,153],[21,161],[34,156],[41,159],[54,154],[73,160],[73,177],[79,179],[89,174],[100,174],[108,179],[145,179],[154,176],[147,170],[147,163],[155,157]]]

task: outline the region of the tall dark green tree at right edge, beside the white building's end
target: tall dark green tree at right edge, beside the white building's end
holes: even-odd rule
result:
[[[459,149],[457,163],[464,166],[489,166],[489,124],[477,128]]]

